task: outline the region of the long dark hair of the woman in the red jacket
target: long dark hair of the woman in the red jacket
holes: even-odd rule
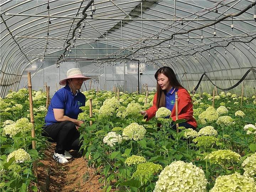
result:
[[[161,67],[160,69],[158,69],[156,71],[156,73],[155,73],[156,80],[158,79],[159,74],[164,74],[168,78],[170,86],[172,86],[176,89],[182,87],[180,82],[178,82],[174,71],[169,66]],[[157,95],[156,106],[157,106],[157,108],[165,107],[165,93],[166,93],[166,90],[162,90],[160,85],[157,83],[157,85],[156,85],[156,95]]]

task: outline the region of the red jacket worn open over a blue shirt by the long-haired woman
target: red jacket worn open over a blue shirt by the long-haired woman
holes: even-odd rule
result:
[[[178,119],[186,119],[187,123],[191,124],[193,127],[197,127],[196,119],[193,117],[193,103],[188,91],[184,88],[180,88],[177,91],[178,94]],[[153,100],[153,106],[150,107],[146,112],[148,113],[148,119],[155,116],[158,108],[156,107],[156,94]],[[172,109],[171,118],[176,121],[175,106]]]

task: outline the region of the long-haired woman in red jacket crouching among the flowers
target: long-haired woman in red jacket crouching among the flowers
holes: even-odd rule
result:
[[[178,119],[186,119],[184,123],[179,123],[179,126],[196,129],[197,122],[193,118],[193,103],[188,91],[178,82],[174,71],[164,66],[158,69],[155,73],[155,79],[158,81],[156,85],[156,94],[153,100],[153,106],[141,114],[151,119],[155,116],[156,111],[160,107],[166,107],[171,110],[171,118],[176,121],[175,111],[175,92],[178,94]]]

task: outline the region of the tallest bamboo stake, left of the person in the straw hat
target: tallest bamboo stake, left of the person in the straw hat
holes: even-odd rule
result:
[[[31,137],[35,138],[31,74],[30,72],[28,72],[27,74],[28,74],[28,94],[29,94],[29,101],[30,101],[30,122],[32,123]],[[35,140],[32,140],[32,149],[36,149]],[[33,161],[33,173],[37,180],[37,162],[36,161]],[[38,183],[34,183],[34,185],[38,187]]]

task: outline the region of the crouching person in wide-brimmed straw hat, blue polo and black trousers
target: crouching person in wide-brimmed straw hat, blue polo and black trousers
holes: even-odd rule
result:
[[[81,112],[79,107],[85,106],[85,95],[79,90],[87,79],[90,78],[82,75],[79,68],[69,69],[67,77],[59,82],[65,87],[55,92],[48,108],[43,135],[57,143],[53,159],[59,163],[72,158],[69,150],[80,149],[78,127],[83,121],[77,118]]]

